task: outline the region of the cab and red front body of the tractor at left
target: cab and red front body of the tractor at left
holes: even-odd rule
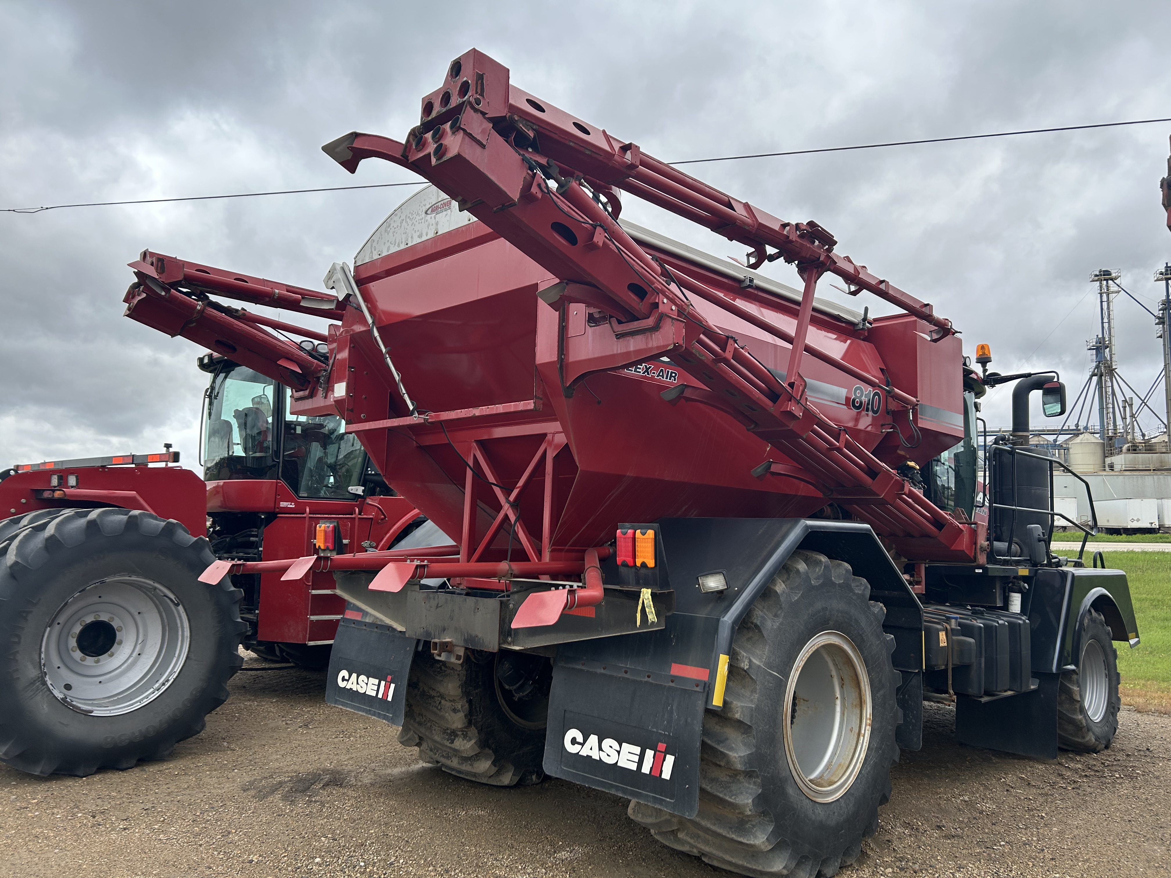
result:
[[[306,349],[306,352],[309,352]],[[316,352],[316,351],[314,351]],[[207,536],[218,557],[278,561],[388,548],[419,523],[336,414],[292,414],[292,391],[219,354],[200,414]],[[333,577],[286,582],[239,574],[244,645],[268,659],[324,667],[344,602]]]

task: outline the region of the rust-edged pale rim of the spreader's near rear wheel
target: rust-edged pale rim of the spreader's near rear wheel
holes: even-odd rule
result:
[[[862,770],[874,718],[870,678],[845,635],[823,631],[801,650],[785,690],[785,755],[815,802],[845,795]]]

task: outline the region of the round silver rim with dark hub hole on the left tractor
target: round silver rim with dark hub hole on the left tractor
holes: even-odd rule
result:
[[[66,601],[41,640],[49,691],[75,711],[116,716],[153,701],[191,645],[183,605],[156,582],[118,576]]]

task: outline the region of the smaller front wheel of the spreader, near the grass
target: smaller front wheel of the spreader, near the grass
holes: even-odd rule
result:
[[[1057,745],[1066,750],[1101,753],[1118,732],[1118,653],[1097,610],[1082,616],[1077,668],[1057,682]]]

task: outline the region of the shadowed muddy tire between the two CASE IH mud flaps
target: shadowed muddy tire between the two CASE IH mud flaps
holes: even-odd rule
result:
[[[456,664],[417,653],[398,740],[470,781],[539,783],[550,680],[552,665],[536,656],[467,650]]]

